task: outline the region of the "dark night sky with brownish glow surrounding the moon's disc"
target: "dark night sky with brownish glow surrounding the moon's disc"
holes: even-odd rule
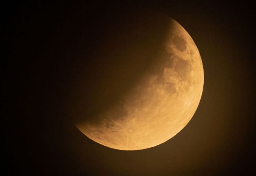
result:
[[[3,167],[9,175],[252,175],[255,8],[234,2],[4,4]],[[118,60],[102,57],[102,43],[142,7],[168,14],[192,36],[203,61],[203,95],[192,120],[171,140],[146,150],[114,150],[88,139],[72,120],[113,97],[102,98],[101,83]]]

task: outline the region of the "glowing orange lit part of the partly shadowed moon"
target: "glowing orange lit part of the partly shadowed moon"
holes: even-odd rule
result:
[[[99,114],[99,123],[76,124],[84,135],[110,148],[142,150],[165,143],[192,119],[203,92],[203,64],[188,32],[168,19],[155,66]]]

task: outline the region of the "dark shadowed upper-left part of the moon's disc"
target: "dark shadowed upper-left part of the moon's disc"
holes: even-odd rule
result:
[[[118,28],[106,29],[107,35],[102,37],[101,45],[90,56],[97,59],[91,64],[91,78],[87,78],[83,85],[78,85],[82,91],[76,94],[75,124],[97,125],[102,119],[108,118],[121,120],[127,115],[123,109],[127,92],[145,74],[159,71],[159,68],[154,69],[161,63],[157,55],[171,24],[168,16],[155,14],[143,10],[124,17],[113,14],[113,22],[118,23],[115,25]],[[167,55],[166,58],[169,57]],[[111,126],[111,122],[106,124],[107,128]]]

